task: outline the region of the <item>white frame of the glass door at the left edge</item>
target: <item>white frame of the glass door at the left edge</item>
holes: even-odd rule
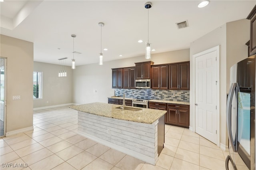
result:
[[[6,115],[7,115],[7,58],[0,57],[4,59],[4,136],[6,135]],[[1,137],[4,137],[1,136]]]

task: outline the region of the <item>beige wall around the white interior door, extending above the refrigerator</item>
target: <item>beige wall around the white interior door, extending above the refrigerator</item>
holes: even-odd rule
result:
[[[216,30],[194,41],[190,45],[190,77],[192,77],[192,55],[220,45],[220,144],[228,145],[226,135],[226,99],[229,90],[230,67],[247,56],[245,43],[249,40],[248,20],[238,20],[226,23]],[[194,80],[190,79],[190,113],[194,113]],[[193,114],[190,114],[190,126],[194,124]]]

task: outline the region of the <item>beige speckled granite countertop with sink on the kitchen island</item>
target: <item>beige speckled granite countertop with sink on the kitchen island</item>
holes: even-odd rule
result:
[[[71,109],[75,109],[77,111],[90,113],[92,115],[98,115],[102,117],[109,117],[113,119],[120,119],[124,121],[132,121],[138,123],[147,123],[152,124],[160,117],[162,117],[167,111],[161,111],[156,109],[144,109],[140,107],[130,107],[130,108],[138,108],[142,109],[140,111],[129,111],[116,109],[116,107],[120,107],[121,105],[114,105],[108,103],[88,103],[83,105],[75,105],[70,106]]]

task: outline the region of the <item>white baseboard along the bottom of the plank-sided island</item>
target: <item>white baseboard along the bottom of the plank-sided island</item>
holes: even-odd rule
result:
[[[96,142],[98,142],[98,143],[100,143],[100,144],[103,144],[103,145],[105,145],[105,146],[108,146],[108,147],[113,148],[113,149],[115,149],[115,150],[118,150],[118,151],[120,151],[120,152],[123,152],[123,153],[125,153],[125,154],[130,155],[130,156],[133,156],[134,158],[138,158],[139,160],[143,160],[143,161],[145,161],[145,162],[148,162],[148,163],[150,163],[150,164],[152,164],[152,165],[155,165],[155,164],[156,164],[156,161],[158,160],[158,154],[157,154],[156,158],[151,158],[151,157],[149,157],[149,156],[146,156],[146,155],[144,155],[144,154],[140,154],[140,153],[135,152],[135,151],[133,151],[133,150],[130,150],[130,149],[128,149],[128,148],[124,148],[124,147],[119,146],[119,145],[117,145],[117,144],[113,144],[113,143],[108,142],[108,141],[106,141],[106,140],[103,140],[103,139],[101,139],[101,138],[92,136],[91,134],[87,134],[87,133],[84,133],[84,132],[81,132],[81,131],[77,131],[77,133],[80,134],[80,135],[82,135],[82,136],[84,136],[84,137],[86,137],[86,138],[89,138],[89,139],[91,139],[91,140],[94,140],[94,141],[96,141]]]

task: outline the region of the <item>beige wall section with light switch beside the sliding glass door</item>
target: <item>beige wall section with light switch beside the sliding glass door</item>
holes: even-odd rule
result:
[[[0,35],[7,58],[6,132],[33,126],[33,43]],[[20,100],[12,96],[20,95]]]

